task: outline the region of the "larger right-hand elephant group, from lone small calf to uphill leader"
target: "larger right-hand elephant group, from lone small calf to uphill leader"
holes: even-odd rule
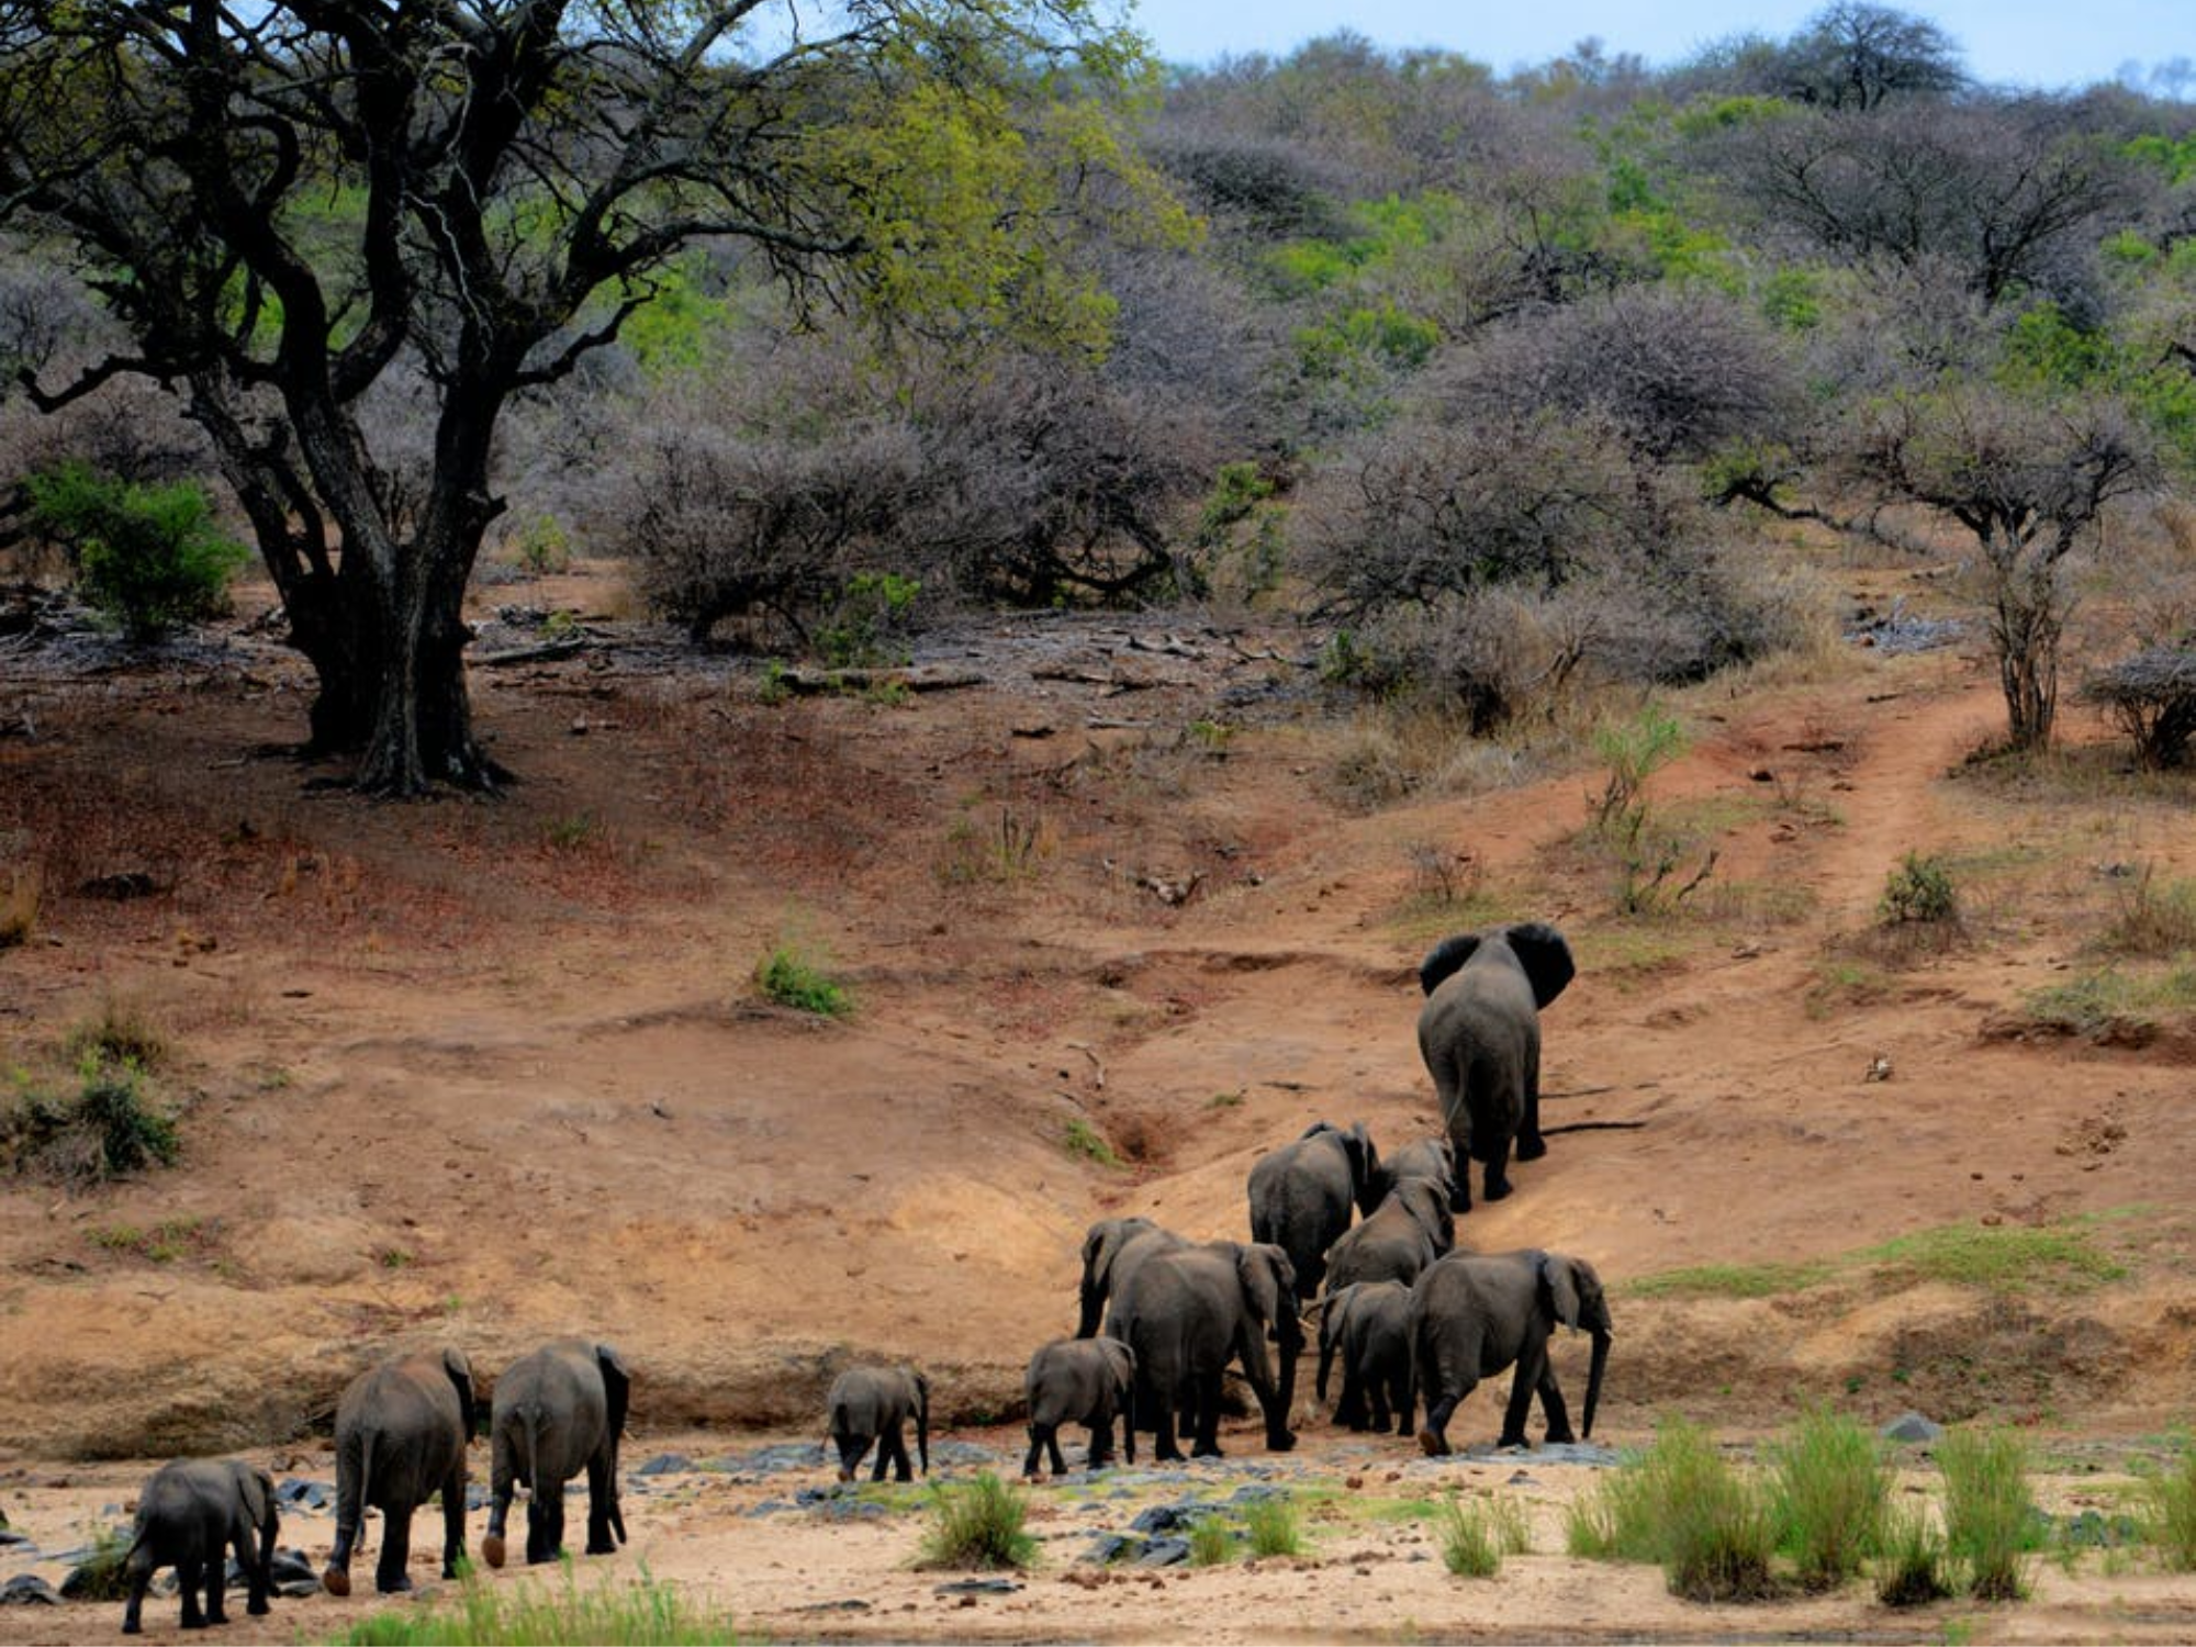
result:
[[[1480,1195],[1511,1192],[1509,1162],[1546,1153],[1539,1127],[1539,1010],[1575,975],[1564,935],[1546,922],[1460,933],[1436,944],[1419,968],[1425,1006],[1419,1050],[1441,1096],[1443,1135],[1381,1162],[1362,1122],[1313,1124],[1263,1155],[1250,1173],[1250,1241],[1192,1241],[1151,1219],[1100,1219],[1083,1239],[1076,1337],[1043,1344],[1023,1375],[1030,1449],[1023,1474],[1043,1460],[1063,1471],[1058,1430],[1089,1427],[1089,1467],[1105,1465],[1120,1419],[1122,1454],[1135,1463],[1138,1432],[1155,1456],[1217,1456],[1221,1379],[1241,1368],[1274,1452],[1296,1445],[1289,1412],[1304,1318],[1318,1322],[1318,1399],[1342,1364],[1335,1423],[1410,1434],[1425,1405],[1419,1445],[1449,1452],[1456,1405],[1482,1381],[1515,1366],[1502,1414],[1502,1445],[1524,1445],[1539,1397],[1548,1441],[1590,1436],[1610,1353],[1610,1309],[1594,1267],[1559,1252],[1476,1254],[1456,1245],[1456,1214]],[[1548,1359],[1557,1326],[1592,1337],[1586,1408],[1572,1434]],[[1267,1344],[1276,1355],[1267,1355]],[[878,1403],[874,1388],[898,1394]],[[852,1478],[870,1441],[876,1480],[887,1460],[909,1478],[898,1430],[927,1414],[920,1375],[859,1368],[832,1390],[830,1427],[841,1478]],[[887,1410],[889,1408],[889,1410]]]

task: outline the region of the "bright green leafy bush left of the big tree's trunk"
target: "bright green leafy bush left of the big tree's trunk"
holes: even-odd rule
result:
[[[33,474],[26,492],[31,527],[68,551],[77,589],[134,641],[217,617],[250,560],[195,481],[138,485],[64,463]]]

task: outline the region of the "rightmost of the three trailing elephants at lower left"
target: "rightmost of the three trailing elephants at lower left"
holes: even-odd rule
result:
[[[617,1441],[626,1432],[632,1375],[608,1344],[560,1337],[512,1362],[490,1399],[488,1535],[481,1555],[503,1566],[512,1491],[527,1487],[527,1566],[564,1553],[564,1482],[586,1471],[586,1553],[626,1542],[617,1506]]]

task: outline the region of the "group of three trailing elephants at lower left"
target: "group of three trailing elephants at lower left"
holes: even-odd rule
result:
[[[564,1482],[586,1471],[586,1553],[615,1550],[626,1522],[617,1509],[617,1441],[626,1427],[630,1377],[608,1344],[564,1337],[520,1355],[496,1379],[488,1412],[490,1509],[481,1557],[503,1566],[512,1493],[529,1489],[527,1561],[553,1561],[564,1546]],[[466,1445],[477,1430],[472,1364],[461,1351],[400,1355],[360,1372],[336,1403],[336,1544],[321,1583],[351,1592],[351,1553],[367,1509],[382,1511],[373,1586],[411,1590],[413,1513],[441,1495],[441,1575],[457,1577],[466,1553]],[[268,1610],[272,1588],[274,1482],[231,1458],[163,1465],[138,1493],[123,1559],[123,1634],[138,1616],[152,1575],[176,1568],[182,1627],[226,1623],[226,1550],[244,1570],[246,1610]],[[198,1590],[204,1588],[204,1607]]]

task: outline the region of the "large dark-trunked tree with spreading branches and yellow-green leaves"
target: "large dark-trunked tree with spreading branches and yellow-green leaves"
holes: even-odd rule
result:
[[[512,400],[707,237],[802,299],[1096,340],[1054,253],[1076,182],[1133,173],[1105,97],[1144,72],[1087,0],[0,0],[0,222],[132,338],[31,393],[171,384],[318,674],[312,742],[382,793],[490,784],[461,602]],[[382,444],[391,384],[426,389],[424,461]]]

